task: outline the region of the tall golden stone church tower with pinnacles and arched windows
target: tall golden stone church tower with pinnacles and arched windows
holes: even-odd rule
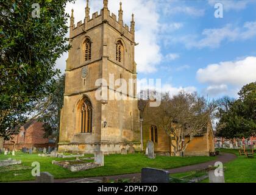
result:
[[[84,23],[75,25],[73,10],[71,15],[59,151],[119,153],[131,145],[138,150],[133,15],[129,28],[123,23],[121,3],[118,19],[110,15],[107,0],[92,18],[88,4],[87,0]]]

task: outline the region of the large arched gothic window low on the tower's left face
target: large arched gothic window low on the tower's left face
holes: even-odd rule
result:
[[[80,124],[81,133],[91,133],[92,132],[92,121],[93,121],[93,107],[89,99],[85,98],[80,109]]]

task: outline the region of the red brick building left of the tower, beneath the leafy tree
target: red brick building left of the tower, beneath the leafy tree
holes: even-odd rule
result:
[[[4,141],[4,148],[16,150],[23,147],[48,147],[55,146],[48,138],[44,138],[43,122],[29,121],[20,128],[20,133],[13,135],[13,139]],[[51,143],[50,143],[51,142]]]

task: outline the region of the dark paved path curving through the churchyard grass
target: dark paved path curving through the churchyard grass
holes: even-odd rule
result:
[[[236,155],[230,154],[230,153],[224,153],[222,152],[221,155],[218,155],[215,160],[207,161],[205,163],[200,163],[196,165],[189,165],[189,166],[182,166],[180,168],[173,168],[168,169],[170,174],[178,173],[178,172],[188,172],[188,171],[195,171],[195,170],[201,170],[206,169],[208,166],[212,165],[214,166],[216,161],[221,161],[222,163],[227,163],[229,161],[235,160]],[[131,179],[133,177],[140,177],[141,173],[134,173],[134,174],[124,174],[119,176],[106,176],[110,180],[116,180],[116,179]],[[90,177],[91,179],[99,179],[102,180],[103,177]],[[79,180],[83,178],[69,178],[69,179],[55,179],[54,183],[65,183],[65,182],[71,182],[74,180]]]

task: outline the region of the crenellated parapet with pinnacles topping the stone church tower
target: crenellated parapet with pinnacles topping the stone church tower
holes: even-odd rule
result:
[[[123,22],[123,9],[122,3],[120,2],[120,8],[118,11],[118,18],[114,13],[110,13],[108,10],[108,1],[104,0],[104,7],[101,9],[101,12],[94,12],[90,17],[90,7],[89,7],[89,0],[87,0],[87,5],[85,7],[85,19],[84,23],[79,21],[77,24],[74,24],[74,16],[73,10],[72,15],[70,18],[70,38],[74,38],[77,35],[82,34],[83,32],[87,32],[90,29],[93,29],[96,26],[101,24],[109,24],[115,30],[118,30],[122,36],[125,36],[131,41],[134,41],[134,32],[135,32],[135,22],[132,15],[132,21],[130,27]]]

